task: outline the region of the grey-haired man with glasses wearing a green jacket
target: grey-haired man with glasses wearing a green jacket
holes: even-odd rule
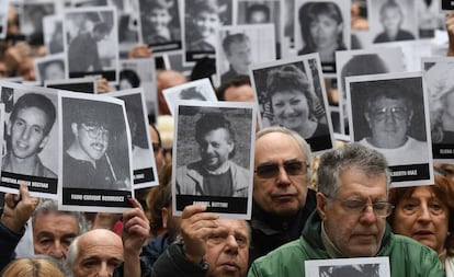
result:
[[[429,247],[391,233],[385,157],[357,142],[326,152],[317,170],[317,211],[299,240],[257,259],[248,276],[304,277],[305,261],[389,257],[391,277],[445,276]]]

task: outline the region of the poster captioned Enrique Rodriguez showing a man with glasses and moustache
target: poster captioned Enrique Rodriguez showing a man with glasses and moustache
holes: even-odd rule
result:
[[[124,101],[60,91],[58,208],[123,212],[134,197],[130,134]]]

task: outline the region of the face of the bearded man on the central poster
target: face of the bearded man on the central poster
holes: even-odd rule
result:
[[[228,131],[224,128],[206,132],[198,143],[202,162],[208,170],[217,170],[224,165],[235,147]]]

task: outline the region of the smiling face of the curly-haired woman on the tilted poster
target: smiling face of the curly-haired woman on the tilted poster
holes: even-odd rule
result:
[[[297,129],[309,118],[309,105],[303,92],[297,90],[280,91],[271,96],[274,118],[290,129]]]

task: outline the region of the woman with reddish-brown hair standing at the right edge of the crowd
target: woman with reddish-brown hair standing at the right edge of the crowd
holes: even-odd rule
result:
[[[393,188],[389,203],[395,206],[388,218],[393,231],[433,249],[446,276],[454,276],[454,183],[435,175],[434,185]]]

